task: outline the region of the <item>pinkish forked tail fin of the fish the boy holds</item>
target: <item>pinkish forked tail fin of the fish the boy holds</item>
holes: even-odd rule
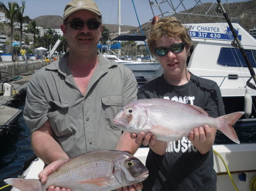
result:
[[[221,117],[218,117],[221,120],[221,125],[218,127],[218,129],[225,134],[228,138],[230,138],[232,141],[236,142],[237,144],[240,144],[240,141],[236,135],[236,132],[232,125],[236,123],[236,121],[244,114],[245,112],[238,111],[234,113],[230,113],[227,115],[223,115]]]

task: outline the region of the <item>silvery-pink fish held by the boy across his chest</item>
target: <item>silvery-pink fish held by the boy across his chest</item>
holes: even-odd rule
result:
[[[127,104],[119,110],[113,121],[123,131],[136,134],[152,132],[156,139],[167,142],[189,136],[193,129],[209,125],[239,144],[232,125],[243,114],[244,112],[234,112],[213,118],[198,106],[154,98]]]

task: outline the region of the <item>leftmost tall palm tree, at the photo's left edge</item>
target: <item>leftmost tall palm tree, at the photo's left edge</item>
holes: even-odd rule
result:
[[[8,52],[11,52],[11,48],[12,48],[12,42],[13,42],[13,26],[14,26],[14,21],[15,21],[15,17],[17,15],[17,11],[19,5],[17,4],[17,2],[8,2],[8,7],[5,6],[5,4],[3,2],[0,2],[0,9],[4,11],[5,13],[5,17],[7,19],[9,19],[9,25],[11,27],[11,46],[8,49]]]

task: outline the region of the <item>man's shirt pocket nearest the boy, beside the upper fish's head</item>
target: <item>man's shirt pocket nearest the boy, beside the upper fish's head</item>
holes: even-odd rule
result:
[[[103,109],[102,121],[104,127],[108,130],[119,130],[115,127],[113,119],[123,106],[123,97],[121,95],[104,96],[101,98],[101,101]]]

